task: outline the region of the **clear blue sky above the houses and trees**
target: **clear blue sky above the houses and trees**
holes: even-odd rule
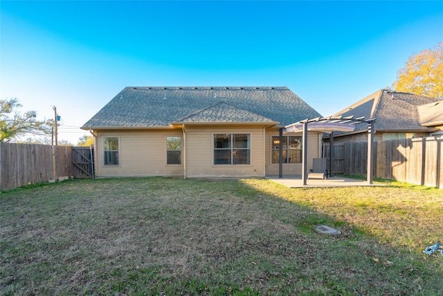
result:
[[[443,1],[0,1],[0,97],[59,139],[127,86],[286,86],[323,116],[443,41]]]

